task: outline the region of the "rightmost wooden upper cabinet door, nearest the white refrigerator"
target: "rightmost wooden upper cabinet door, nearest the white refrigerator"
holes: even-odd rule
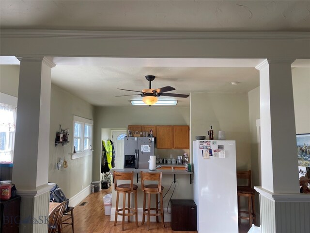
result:
[[[189,126],[174,125],[173,126],[173,148],[189,149]]]

